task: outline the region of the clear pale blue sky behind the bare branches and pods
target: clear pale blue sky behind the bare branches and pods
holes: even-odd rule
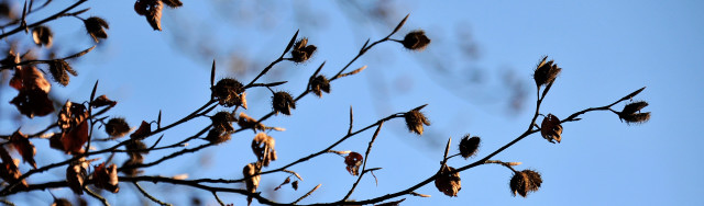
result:
[[[561,144],[552,145],[534,135],[496,156],[497,160],[522,162],[517,170],[541,172],[540,191],[527,198],[512,196],[509,170],[481,165],[461,173],[462,191],[458,197],[444,196],[430,183],[417,192],[432,197],[405,196],[402,205],[704,205],[701,198],[704,178],[700,174],[704,162],[700,146],[704,140],[696,133],[704,116],[700,108],[704,105],[701,81],[704,4],[700,1],[395,1],[389,3],[394,5],[394,12],[388,13],[391,26],[350,12],[353,10],[345,3],[240,4],[258,9],[244,11],[185,0],[184,8],[165,9],[164,31],[153,32],[134,13],[131,1],[89,2],[88,13],[110,22],[110,37],[74,66],[80,76],[69,87],[54,87],[53,92],[84,101],[99,79],[98,93],[119,102],[110,115],[123,116],[131,125],[138,125],[143,119],[156,119],[162,110],[163,122],[170,123],[210,98],[209,69],[213,58],[218,61],[218,78],[235,77],[249,82],[264,68],[256,62],[274,60],[300,28],[300,36],[318,46],[318,54],[307,64],[279,64],[261,80],[289,80],[279,89],[298,94],[322,61],[327,61],[322,73],[334,75],[366,38],[385,36],[410,13],[406,26],[394,37],[403,38],[405,33],[422,28],[433,41],[428,49],[415,53],[397,43],[378,45],[352,65],[369,66],[365,71],[333,82],[332,93],[322,99],[307,96],[293,116],[266,121],[266,125],[287,128],[270,133],[276,138],[279,157],[270,168],[282,167],[337,141],[346,133],[350,106],[354,108],[354,127],[362,128],[393,113],[429,104],[424,108],[432,122],[426,127],[427,135],[408,133],[403,119],[384,125],[367,162],[370,168],[383,168],[375,172],[378,185],[371,175],[365,176],[352,198],[367,199],[405,190],[437,171],[449,137],[455,149],[463,135],[481,136],[483,142],[475,158],[479,159],[518,136],[535,110],[532,70],[548,55],[563,70],[546,99],[542,114],[563,118],[590,106],[607,105],[647,87],[636,100],[650,103],[645,108],[652,112],[650,122],[627,125],[612,113],[590,113],[583,121],[563,125]],[[230,11],[231,16],[215,14],[222,11]],[[55,45],[66,48],[66,54],[72,50],[68,48],[90,46],[90,39],[80,36],[81,22],[64,19],[54,26]],[[461,39],[468,38],[460,34],[466,33],[471,34],[469,42],[479,50],[479,57],[455,53],[459,45],[466,43]],[[215,49],[193,50],[196,48]],[[202,58],[197,54],[211,56]],[[231,54],[252,59],[254,62],[245,65],[256,68],[246,68],[249,72],[228,69]],[[453,78],[438,75],[438,65],[451,68],[453,71],[449,73]],[[475,80],[479,75],[481,80]],[[512,90],[506,89],[506,78],[521,81],[518,88],[525,98],[520,99],[520,110],[507,106]],[[471,82],[462,82],[463,79]],[[2,95],[3,101],[8,96]],[[248,91],[251,102],[246,113],[255,118],[268,113],[270,96],[266,89]],[[615,110],[623,105],[616,105]],[[3,105],[3,111],[13,108],[10,106]],[[166,131],[164,138],[178,141],[208,122],[195,121]],[[7,121],[0,125],[3,133],[18,126]],[[372,134],[373,130],[363,133],[336,149],[363,153]],[[250,131],[237,134],[227,144],[167,161],[146,170],[146,174],[239,179],[242,167],[255,161],[250,149],[253,136]],[[47,147],[46,144],[35,145],[37,157],[43,156],[46,149],[42,147]],[[37,164],[63,158],[56,154],[37,159]],[[147,161],[163,154],[152,152]],[[116,157],[116,162],[121,164],[125,158]],[[459,168],[471,162],[473,159],[455,159],[450,165]],[[260,191],[280,202],[290,202],[322,184],[301,203],[333,202],[356,180],[344,170],[343,158],[336,154],[323,154],[292,170],[305,179],[298,191],[290,187],[271,191],[285,174],[263,176]],[[61,180],[63,172],[51,171],[56,178],[46,180]],[[140,196],[133,186],[120,186],[119,195],[106,195],[114,205],[132,204]],[[162,191],[154,195],[177,205],[198,195],[208,205],[217,204],[208,193],[168,184],[145,183],[145,187]],[[58,196],[70,195],[69,190],[53,192]],[[51,196],[44,193],[13,198],[29,204],[51,202]],[[221,198],[235,205],[246,204],[240,195],[222,194]]]

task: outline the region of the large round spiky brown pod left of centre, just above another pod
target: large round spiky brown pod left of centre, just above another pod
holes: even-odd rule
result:
[[[242,99],[244,85],[242,85],[238,80],[230,78],[222,79],[210,90],[212,92],[212,98],[217,100],[220,105],[227,107],[235,105],[242,106],[242,103],[244,102]]]

